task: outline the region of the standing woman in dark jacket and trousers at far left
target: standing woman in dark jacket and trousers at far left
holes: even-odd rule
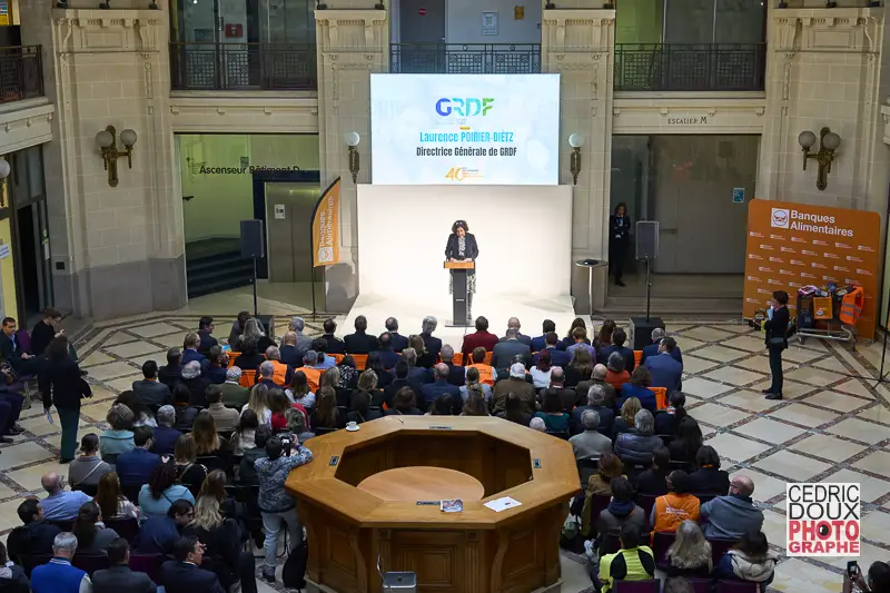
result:
[[[43,409],[52,405],[62,428],[59,463],[69,463],[77,451],[77,424],[80,421],[81,397],[92,397],[89,384],[80,376],[80,367],[68,356],[68,338],[61,335],[47,346],[47,360],[37,376]]]

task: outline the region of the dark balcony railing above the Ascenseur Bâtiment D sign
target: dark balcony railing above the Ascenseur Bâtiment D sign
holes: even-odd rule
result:
[[[175,90],[315,90],[315,45],[170,42]]]

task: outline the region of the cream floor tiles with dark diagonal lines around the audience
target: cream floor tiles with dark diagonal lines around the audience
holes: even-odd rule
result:
[[[278,319],[280,336],[287,318]],[[154,315],[81,332],[78,350],[95,391],[82,408],[81,433],[99,431],[110,402],[139,376],[146,356],[162,363],[166,348],[181,344],[196,322],[191,315]],[[320,319],[310,322],[308,330],[320,333],[319,325]],[[224,337],[225,318],[217,320],[217,327]],[[754,481],[754,498],[764,508],[764,531],[772,545],[783,551],[787,481],[860,482],[868,514],[860,564],[890,557],[890,389],[876,385],[880,345],[860,344],[857,352],[813,340],[792,345],[784,357],[785,399],[769,402],[759,393],[769,385],[760,334],[742,325],[689,320],[669,324],[669,330],[683,349],[690,414],[723,457],[724,468]],[[0,446],[0,532],[19,523],[16,507],[22,495],[37,492],[41,473],[65,473],[53,457],[58,425],[46,421],[39,404],[24,412],[21,424],[27,432],[16,443]],[[590,586],[576,560],[563,557],[567,593]],[[785,560],[773,587],[838,591],[846,560]]]

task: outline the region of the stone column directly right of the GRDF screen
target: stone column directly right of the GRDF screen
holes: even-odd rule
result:
[[[560,3],[562,6],[562,3]],[[544,10],[541,69],[560,73],[560,182],[571,185],[572,148],[568,136],[584,136],[581,175],[574,188],[572,258],[609,257],[609,204],[612,169],[612,86],[615,11],[596,9]],[[572,265],[567,261],[566,265]],[[605,278],[595,280],[605,299]],[[572,293],[586,294],[587,286]]]

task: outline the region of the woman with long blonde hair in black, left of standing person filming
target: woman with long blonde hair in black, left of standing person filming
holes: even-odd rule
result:
[[[237,521],[224,515],[217,498],[201,496],[195,505],[195,516],[182,530],[182,535],[197,537],[205,546],[201,565],[216,573],[224,589],[228,590],[240,582],[243,593],[256,593],[254,554],[243,550],[241,527]]]

